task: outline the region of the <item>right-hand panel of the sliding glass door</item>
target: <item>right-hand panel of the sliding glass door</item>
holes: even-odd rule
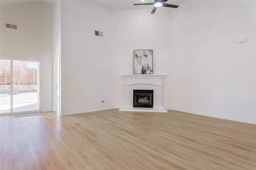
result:
[[[13,112],[39,110],[39,62],[13,61]]]

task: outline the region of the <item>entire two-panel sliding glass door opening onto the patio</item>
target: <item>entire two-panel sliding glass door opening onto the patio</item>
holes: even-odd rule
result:
[[[1,114],[40,110],[39,65],[35,61],[1,60]]]

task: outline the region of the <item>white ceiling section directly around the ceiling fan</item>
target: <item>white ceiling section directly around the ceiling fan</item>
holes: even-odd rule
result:
[[[188,0],[168,0],[166,3],[180,5],[186,1]],[[154,2],[154,0],[145,0],[143,2],[141,0],[90,0],[90,2],[99,4],[101,6],[105,6],[112,10],[132,10],[132,9],[153,8],[153,5],[134,6],[133,4],[149,3],[149,2]]]

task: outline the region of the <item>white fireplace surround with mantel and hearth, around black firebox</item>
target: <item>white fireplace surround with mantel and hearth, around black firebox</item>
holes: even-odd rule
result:
[[[119,111],[168,112],[162,106],[163,74],[122,75],[124,79],[124,106]],[[133,107],[133,90],[154,90],[153,108]]]

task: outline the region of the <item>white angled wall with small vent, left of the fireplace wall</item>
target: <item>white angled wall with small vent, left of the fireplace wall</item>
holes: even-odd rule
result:
[[[104,37],[96,37],[95,30]],[[113,51],[113,10],[88,1],[61,1],[62,115],[113,107]]]

